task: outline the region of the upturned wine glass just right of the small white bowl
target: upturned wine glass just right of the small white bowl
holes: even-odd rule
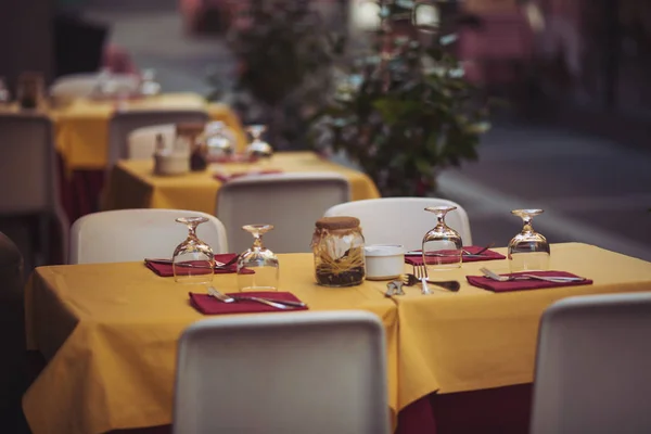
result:
[[[423,237],[422,258],[427,270],[448,270],[461,267],[463,241],[459,232],[445,224],[445,216],[456,206],[429,206],[425,210],[434,213],[436,226]]]

